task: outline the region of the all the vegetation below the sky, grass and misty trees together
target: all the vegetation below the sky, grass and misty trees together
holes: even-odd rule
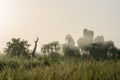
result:
[[[42,55],[35,54],[38,38],[32,52],[27,40],[13,38],[0,55],[0,80],[119,80],[120,49],[93,34],[85,29],[78,46],[71,35],[62,47],[58,41],[45,44]]]

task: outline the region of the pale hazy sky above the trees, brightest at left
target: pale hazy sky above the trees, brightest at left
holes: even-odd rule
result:
[[[33,46],[38,36],[40,51],[67,34],[77,40],[84,28],[120,47],[120,0],[0,0],[0,50],[13,37]]]

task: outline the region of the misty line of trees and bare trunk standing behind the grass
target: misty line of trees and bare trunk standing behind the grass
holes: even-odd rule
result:
[[[27,40],[13,38],[7,42],[5,53],[9,56],[35,57],[38,40],[37,38],[34,49],[30,52],[30,44]],[[120,59],[120,49],[114,45],[113,41],[105,41],[102,35],[94,38],[94,32],[88,29],[84,29],[83,37],[78,39],[77,46],[70,34],[65,37],[65,41],[64,44],[60,44],[59,41],[45,44],[41,47],[40,53],[44,56],[63,54],[64,56],[94,58],[96,60]]]

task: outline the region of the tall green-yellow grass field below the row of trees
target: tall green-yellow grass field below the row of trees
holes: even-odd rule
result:
[[[0,80],[120,80],[120,61],[0,57]]]

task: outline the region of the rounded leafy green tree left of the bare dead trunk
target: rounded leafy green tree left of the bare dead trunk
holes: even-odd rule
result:
[[[20,40],[20,38],[12,38],[10,42],[7,42],[5,53],[10,56],[28,56],[29,46],[27,40]]]

